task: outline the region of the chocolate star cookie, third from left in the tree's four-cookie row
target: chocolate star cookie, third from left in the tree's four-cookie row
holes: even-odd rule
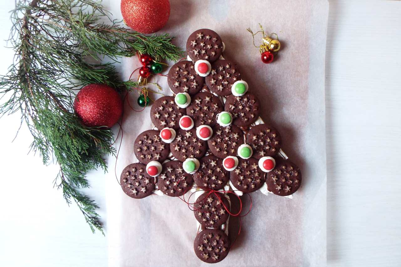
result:
[[[219,158],[237,156],[238,147],[244,143],[244,133],[238,126],[213,127],[213,136],[207,141],[210,151]]]

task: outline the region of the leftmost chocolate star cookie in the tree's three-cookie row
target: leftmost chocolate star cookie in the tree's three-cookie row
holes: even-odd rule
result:
[[[185,109],[178,107],[172,96],[160,97],[150,109],[150,119],[159,130],[164,127],[179,129],[178,121],[183,115],[186,115]]]

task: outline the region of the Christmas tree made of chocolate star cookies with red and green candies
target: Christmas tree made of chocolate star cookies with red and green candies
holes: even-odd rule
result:
[[[128,165],[120,179],[133,198],[194,192],[194,251],[207,263],[223,260],[230,249],[229,216],[239,212],[231,213],[229,193],[260,190],[292,198],[302,180],[281,150],[277,129],[259,117],[259,100],[237,65],[223,58],[224,49],[213,30],[189,36],[188,60],[168,73],[173,96],[152,105],[155,128],[134,144],[140,163]]]

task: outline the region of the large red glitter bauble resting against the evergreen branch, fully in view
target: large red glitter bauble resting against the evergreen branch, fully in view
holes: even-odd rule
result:
[[[85,126],[111,128],[121,117],[123,103],[113,88],[92,83],[75,97],[74,110]]]

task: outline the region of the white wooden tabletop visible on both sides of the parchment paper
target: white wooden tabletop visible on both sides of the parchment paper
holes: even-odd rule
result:
[[[2,39],[8,10],[2,1]],[[326,51],[328,265],[401,265],[401,1],[330,1]],[[1,48],[1,73],[12,59]],[[285,70],[283,70],[285,71]],[[26,155],[18,115],[1,119],[0,265],[105,266],[107,239],[92,235],[52,181],[58,170]],[[103,175],[89,194],[105,206]],[[105,210],[101,210],[104,216]]]

